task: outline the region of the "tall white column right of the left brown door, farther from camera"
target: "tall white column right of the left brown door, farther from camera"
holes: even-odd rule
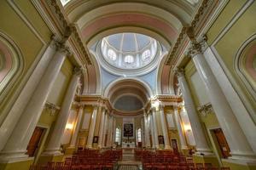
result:
[[[73,71],[73,77],[67,88],[67,94],[65,95],[64,101],[62,102],[61,111],[57,117],[54,130],[49,139],[49,143],[44,150],[44,155],[61,155],[61,137],[65,131],[67,119],[73,103],[73,98],[79,83],[80,74],[81,71],[78,68],[75,68]]]

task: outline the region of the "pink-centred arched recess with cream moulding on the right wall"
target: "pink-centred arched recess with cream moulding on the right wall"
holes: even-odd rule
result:
[[[256,34],[249,37],[238,49],[234,60],[234,69],[256,101]]]

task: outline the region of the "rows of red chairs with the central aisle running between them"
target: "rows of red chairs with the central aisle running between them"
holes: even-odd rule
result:
[[[78,150],[65,161],[32,165],[30,170],[230,170],[166,150]]]

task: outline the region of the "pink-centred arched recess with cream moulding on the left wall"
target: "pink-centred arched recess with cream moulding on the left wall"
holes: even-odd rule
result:
[[[24,68],[24,59],[20,48],[0,31],[0,101],[2,101],[12,84],[15,83]]]

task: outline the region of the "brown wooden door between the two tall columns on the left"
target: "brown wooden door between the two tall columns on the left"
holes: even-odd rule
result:
[[[28,155],[30,157],[37,155],[38,150],[40,148],[41,141],[44,136],[45,130],[46,130],[46,128],[44,128],[44,127],[36,127],[35,128],[35,130],[32,134],[32,137],[27,145],[26,155]]]

